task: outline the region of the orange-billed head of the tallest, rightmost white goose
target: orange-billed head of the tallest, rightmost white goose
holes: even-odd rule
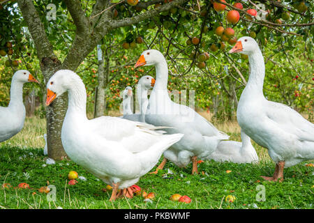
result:
[[[251,55],[253,52],[255,52],[256,49],[260,49],[256,41],[249,36],[244,36],[244,37],[239,38],[236,45],[234,45],[234,47],[230,49],[229,53],[230,54],[240,53],[240,54]]]

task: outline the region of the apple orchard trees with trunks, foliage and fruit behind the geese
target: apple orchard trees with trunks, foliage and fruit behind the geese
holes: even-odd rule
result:
[[[227,52],[237,38],[251,36],[265,59],[264,95],[313,122],[313,1],[0,4],[0,105],[8,105],[13,73],[29,70],[40,84],[24,86],[27,115],[47,119],[48,153],[55,160],[65,156],[60,135],[67,99],[45,107],[45,82],[59,69],[74,70],[87,87],[89,118],[119,115],[121,91],[126,86],[135,91],[143,75],[155,77],[154,68],[133,68],[149,48],[163,52],[168,61],[169,91],[188,95],[194,90],[195,109],[221,123],[236,121],[249,73],[246,57]]]

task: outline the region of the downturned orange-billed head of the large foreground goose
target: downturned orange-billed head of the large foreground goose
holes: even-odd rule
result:
[[[54,99],[68,91],[75,77],[80,79],[72,70],[58,70],[55,72],[47,82],[46,105],[50,105]]]

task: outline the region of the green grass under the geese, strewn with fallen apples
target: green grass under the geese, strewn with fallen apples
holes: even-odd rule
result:
[[[36,123],[36,128],[29,127]],[[191,164],[179,169],[168,162],[157,176],[147,174],[137,183],[145,192],[156,194],[153,203],[145,203],[142,197],[110,202],[110,192],[101,190],[105,183],[74,162],[63,160],[45,166],[47,157],[43,155],[44,141],[40,137],[44,129],[44,121],[28,118],[22,132],[0,144],[0,185],[12,185],[9,189],[0,189],[0,208],[313,208],[314,167],[305,166],[310,161],[285,169],[283,183],[266,182],[260,175],[271,176],[274,162],[256,144],[253,145],[260,156],[258,164],[205,161],[199,164],[199,171],[204,175],[191,176]],[[226,132],[239,140],[238,130]],[[163,178],[167,169],[173,174]],[[72,170],[87,180],[68,185],[68,172]],[[226,170],[231,172],[227,174]],[[38,192],[48,181],[57,189],[54,202],[48,202],[46,195]],[[19,183],[28,183],[31,189],[14,188]],[[256,201],[258,185],[264,185],[266,201]],[[170,201],[170,196],[177,193],[188,195],[192,202]],[[236,197],[235,201],[225,201],[227,195]]]

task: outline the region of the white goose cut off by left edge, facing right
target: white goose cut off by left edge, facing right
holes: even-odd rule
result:
[[[17,70],[12,77],[10,103],[8,107],[0,107],[0,142],[10,139],[22,130],[25,119],[23,104],[23,84],[38,81],[28,70]]]

